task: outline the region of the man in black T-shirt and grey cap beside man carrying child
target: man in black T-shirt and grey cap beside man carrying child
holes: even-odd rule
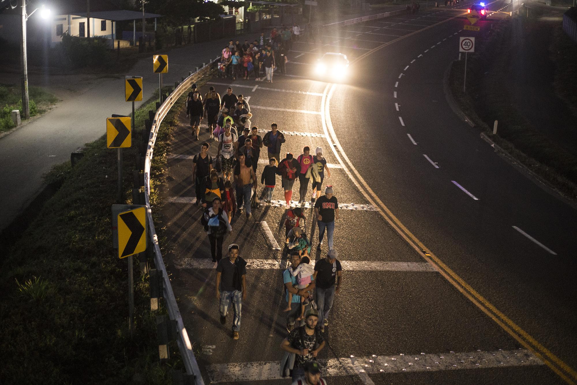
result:
[[[328,325],[328,313],[332,308],[335,294],[339,294],[340,285],[343,282],[340,261],[336,259],[339,254],[335,249],[328,251],[327,256],[314,265],[314,281],[317,283],[314,290],[315,301],[319,309],[319,325],[321,332]],[[336,287],[335,287],[336,282]]]

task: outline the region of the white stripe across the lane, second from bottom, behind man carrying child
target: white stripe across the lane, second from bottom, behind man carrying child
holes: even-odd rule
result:
[[[283,234],[284,235],[284,234]],[[286,259],[256,259],[246,258],[247,269],[286,269]],[[216,268],[216,262],[209,258],[186,258],[176,261],[178,269],[213,269]],[[310,261],[314,266],[314,261]],[[436,272],[433,266],[427,262],[396,262],[396,261],[340,261],[344,271],[410,271],[432,273]]]

